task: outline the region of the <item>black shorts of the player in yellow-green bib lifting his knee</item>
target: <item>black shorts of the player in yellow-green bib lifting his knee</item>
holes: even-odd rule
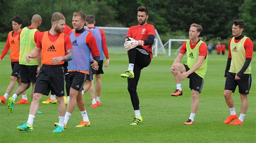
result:
[[[183,64],[186,71],[190,70],[190,68],[187,67],[187,65]],[[204,84],[204,78],[199,76],[197,73],[192,73],[188,75],[187,78],[190,78],[190,89],[196,90],[199,93],[201,93],[201,90],[203,89]]]

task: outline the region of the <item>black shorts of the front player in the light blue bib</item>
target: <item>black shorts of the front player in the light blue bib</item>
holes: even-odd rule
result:
[[[90,74],[87,75],[84,73],[80,73],[78,71],[69,72],[69,80],[70,80],[71,88],[73,88],[79,92],[82,91],[85,81],[92,80],[92,72],[90,71],[89,73]]]

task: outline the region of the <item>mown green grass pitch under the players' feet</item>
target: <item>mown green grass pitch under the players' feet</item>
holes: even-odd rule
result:
[[[3,43],[0,44],[1,51]],[[255,55],[256,53],[254,53]],[[176,84],[170,74],[174,56],[159,55],[149,67],[143,69],[138,85],[140,111],[143,124],[131,126],[134,112],[127,92],[127,81],[119,75],[127,69],[126,54],[110,54],[110,65],[104,68],[102,102],[96,109],[90,108],[90,96],[84,95],[90,127],[77,128],[82,119],[76,108],[63,133],[52,133],[53,123],[58,121],[58,105],[39,106],[32,133],[17,130],[28,119],[30,104],[15,105],[10,113],[6,104],[0,104],[0,142],[254,142],[256,115],[256,61],[252,61],[253,83],[248,96],[249,108],[244,125],[231,126],[222,122],[229,115],[223,97],[224,70],[227,56],[209,55],[204,88],[199,96],[199,109],[195,124],[185,126],[190,115],[191,91],[188,79],[182,82],[183,96],[171,97]],[[4,94],[11,74],[9,56],[0,62],[0,94]],[[14,93],[12,91],[11,95]],[[30,89],[28,95],[30,96]],[[19,98],[19,97],[18,97]],[[47,97],[44,96],[42,101]],[[240,115],[238,91],[233,94],[235,109]],[[31,101],[31,99],[29,99]]]

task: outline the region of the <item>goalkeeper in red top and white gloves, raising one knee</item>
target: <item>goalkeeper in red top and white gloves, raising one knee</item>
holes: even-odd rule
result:
[[[140,71],[149,66],[152,59],[152,45],[154,43],[154,26],[147,23],[149,11],[144,6],[139,6],[137,19],[139,24],[129,28],[126,35],[124,48],[128,51],[129,68],[121,77],[128,80],[128,91],[131,96],[135,118],[131,125],[142,123],[139,111],[139,97],[137,85]]]

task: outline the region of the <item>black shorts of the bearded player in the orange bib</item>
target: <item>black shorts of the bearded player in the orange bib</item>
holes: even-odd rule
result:
[[[56,96],[64,96],[64,68],[62,65],[43,65],[35,85],[35,93],[49,95],[52,91]]]

